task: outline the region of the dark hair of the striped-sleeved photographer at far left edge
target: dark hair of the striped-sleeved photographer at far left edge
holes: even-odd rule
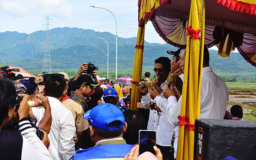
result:
[[[7,79],[0,79],[0,125],[8,115],[9,109],[16,103],[16,90],[13,83]]]

